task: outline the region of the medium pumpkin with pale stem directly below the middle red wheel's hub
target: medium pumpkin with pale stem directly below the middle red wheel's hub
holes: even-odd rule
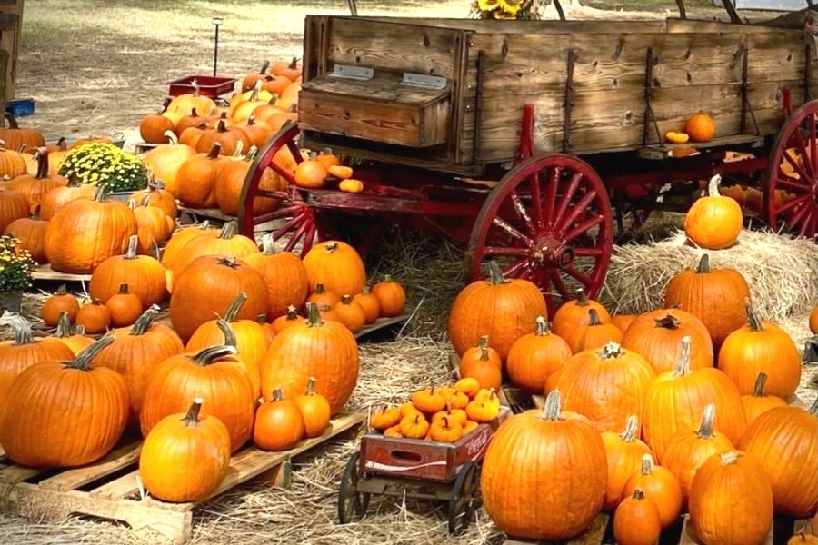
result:
[[[548,377],[562,369],[571,355],[568,343],[551,332],[543,316],[538,316],[536,331],[524,334],[512,344],[505,369],[515,386],[542,393]]]

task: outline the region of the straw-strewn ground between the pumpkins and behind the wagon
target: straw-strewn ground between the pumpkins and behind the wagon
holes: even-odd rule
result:
[[[567,4],[567,2],[565,3]],[[686,2],[689,16],[723,14],[709,0]],[[583,2],[574,18],[657,18],[673,16],[673,2],[655,0]],[[361,15],[460,17],[465,0],[358,2]],[[623,11],[625,8],[631,11]],[[609,10],[609,11],[605,11]],[[613,13],[612,13],[613,12]],[[218,72],[243,76],[265,59],[301,55],[304,15],[346,13],[343,0],[304,2],[260,0],[26,0],[22,49],[18,62],[17,96],[35,98],[36,114],[21,120],[45,132],[49,139],[123,134],[135,140],[135,127],[156,110],[167,82],[213,69],[213,26],[221,16]],[[758,20],[763,14],[748,13]],[[423,246],[422,246],[423,247]],[[426,248],[426,247],[423,247]],[[434,267],[453,267],[456,251],[419,264],[410,245],[398,248],[385,269],[404,267],[418,279],[418,291],[437,290],[448,297],[458,285],[456,274],[424,286],[421,275]],[[434,261],[438,260],[438,261]],[[401,264],[402,263],[402,264]],[[408,264],[407,264],[408,263]],[[424,269],[426,267],[426,269]],[[410,271],[411,269],[411,271]],[[448,269],[447,269],[448,270]],[[445,283],[448,282],[448,283]],[[431,286],[431,287],[430,287]],[[448,290],[448,291],[447,291]],[[417,302],[422,297],[416,296]],[[433,304],[426,300],[425,304]],[[438,301],[439,303],[439,301]],[[442,304],[442,303],[441,303]],[[806,334],[803,319],[796,338]],[[362,345],[362,375],[351,405],[394,402],[427,383],[445,381],[446,345],[439,339],[404,337],[395,342]],[[265,484],[238,487],[195,510],[193,542],[216,543],[499,543],[502,537],[480,511],[464,536],[450,539],[445,510],[429,502],[373,500],[371,514],[360,523],[335,523],[338,479],[356,441],[332,441],[300,458],[294,467],[292,490]],[[29,543],[165,543],[146,530],[130,530],[105,520],[72,517],[65,522],[0,516],[0,541]]]

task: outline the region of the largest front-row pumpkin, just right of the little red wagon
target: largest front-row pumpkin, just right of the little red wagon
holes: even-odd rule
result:
[[[546,398],[544,411],[514,415],[494,433],[480,479],[484,508],[508,535],[569,539],[585,530],[602,509],[606,468],[599,432],[585,421],[565,420],[560,394],[554,391]],[[582,478],[567,486],[566,475]]]

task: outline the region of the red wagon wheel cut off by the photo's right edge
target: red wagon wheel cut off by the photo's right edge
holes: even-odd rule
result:
[[[818,101],[803,104],[783,124],[767,165],[764,213],[776,231],[818,233]]]

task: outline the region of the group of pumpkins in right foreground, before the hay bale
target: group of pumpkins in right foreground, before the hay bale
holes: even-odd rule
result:
[[[608,510],[617,542],[653,543],[686,509],[705,544],[756,543],[773,512],[815,514],[818,402],[785,401],[801,354],[753,311],[740,272],[704,254],[668,283],[663,309],[611,316],[579,292],[552,326],[532,282],[490,271],[449,317],[462,376],[547,396],[486,452],[484,505],[501,530],[570,539]],[[739,510],[725,516],[725,500]]]

